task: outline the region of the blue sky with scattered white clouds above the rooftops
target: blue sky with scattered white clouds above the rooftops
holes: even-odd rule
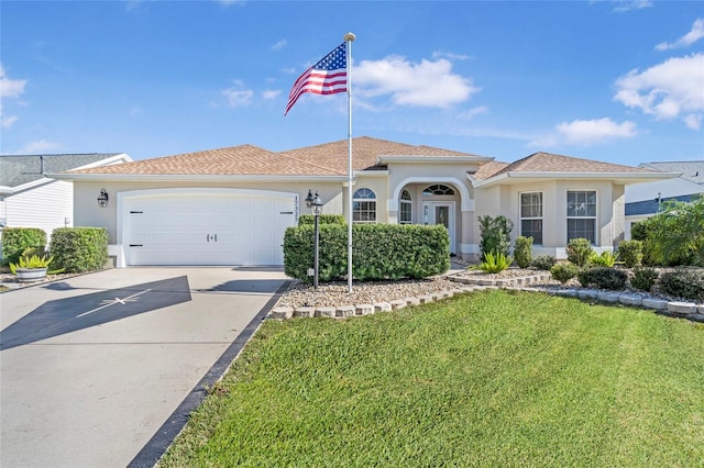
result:
[[[513,161],[704,159],[702,1],[7,1],[1,154],[346,138],[295,79],[353,32],[353,136]]]

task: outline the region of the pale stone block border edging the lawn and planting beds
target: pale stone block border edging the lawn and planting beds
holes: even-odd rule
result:
[[[352,316],[370,315],[380,312],[391,312],[406,307],[426,304],[452,298],[457,294],[464,294],[473,291],[487,289],[506,289],[528,292],[541,292],[551,296],[566,298],[579,298],[585,301],[598,301],[606,304],[623,304],[628,307],[651,310],[656,313],[686,319],[694,322],[704,323],[704,304],[694,302],[668,301],[664,299],[642,297],[631,292],[603,291],[585,288],[553,288],[536,286],[544,283],[550,279],[550,274],[537,272],[535,275],[514,278],[490,278],[475,277],[468,278],[461,276],[447,276],[451,281],[458,283],[458,288],[436,292],[432,294],[404,298],[388,302],[377,302],[373,304],[352,305],[328,305],[328,307],[276,307],[271,310],[267,317],[286,320],[293,317],[330,317],[346,319]]]

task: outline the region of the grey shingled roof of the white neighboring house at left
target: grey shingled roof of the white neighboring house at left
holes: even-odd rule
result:
[[[0,155],[0,186],[16,188],[42,180],[47,174],[64,172],[94,165],[122,153],[54,154],[54,155]],[[127,156],[127,155],[124,155]],[[129,158],[129,156],[127,156]]]

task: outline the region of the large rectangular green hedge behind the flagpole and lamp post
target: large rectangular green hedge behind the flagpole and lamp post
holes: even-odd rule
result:
[[[360,281],[427,278],[450,268],[450,238],[442,225],[352,225],[352,275]],[[284,271],[311,282],[314,226],[289,227],[284,235]],[[320,225],[318,277],[341,280],[348,274],[348,226]]]

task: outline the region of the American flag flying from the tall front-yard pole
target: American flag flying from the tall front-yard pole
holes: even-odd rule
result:
[[[340,44],[312,67],[298,77],[288,93],[284,115],[294,107],[300,94],[334,94],[348,90],[346,43]]]

